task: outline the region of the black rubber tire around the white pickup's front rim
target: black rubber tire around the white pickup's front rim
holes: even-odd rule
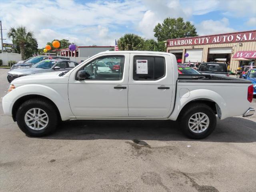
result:
[[[46,112],[48,115],[48,124],[45,128],[41,130],[33,130],[32,128],[29,128],[26,125],[25,122],[25,114],[28,110],[32,108],[40,108]],[[24,102],[17,111],[16,114],[16,120],[17,124],[25,134],[33,137],[41,137],[41,136],[46,136],[50,133],[52,133],[58,124],[58,112],[54,106],[50,102],[47,102],[46,100],[43,99],[31,99],[26,102]]]

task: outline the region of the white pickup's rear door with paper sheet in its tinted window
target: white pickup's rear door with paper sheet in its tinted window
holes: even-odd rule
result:
[[[130,54],[130,117],[167,117],[172,103],[172,61],[167,54]],[[177,72],[178,73],[178,72]]]

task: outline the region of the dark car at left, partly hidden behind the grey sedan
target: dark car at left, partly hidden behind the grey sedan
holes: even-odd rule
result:
[[[51,56],[51,57],[53,59],[57,59],[58,58],[58,59],[69,60],[69,58],[66,58],[66,57],[60,57],[60,56]],[[17,68],[24,68],[24,67],[32,67],[34,64],[37,64],[38,62],[40,62],[42,60],[46,60],[48,58],[49,58],[49,56],[46,56],[46,55],[35,56],[35,57],[32,57],[32,58],[26,60],[23,63],[16,63],[16,64],[12,65],[10,70],[17,69]]]

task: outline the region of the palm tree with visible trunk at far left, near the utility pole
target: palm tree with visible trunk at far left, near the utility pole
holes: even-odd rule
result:
[[[33,32],[28,31],[24,26],[19,26],[16,29],[11,27],[7,33],[7,37],[12,38],[12,41],[20,46],[21,58],[25,60],[25,45],[26,42],[31,42],[31,40],[34,39]]]

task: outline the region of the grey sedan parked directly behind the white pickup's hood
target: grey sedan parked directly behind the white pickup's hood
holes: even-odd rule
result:
[[[52,72],[52,71],[62,71],[62,70],[71,70],[78,63],[71,62],[68,60],[52,59],[52,60],[42,60],[37,64],[34,64],[32,67],[14,69],[7,73],[8,82],[12,82],[14,79],[36,73]]]

